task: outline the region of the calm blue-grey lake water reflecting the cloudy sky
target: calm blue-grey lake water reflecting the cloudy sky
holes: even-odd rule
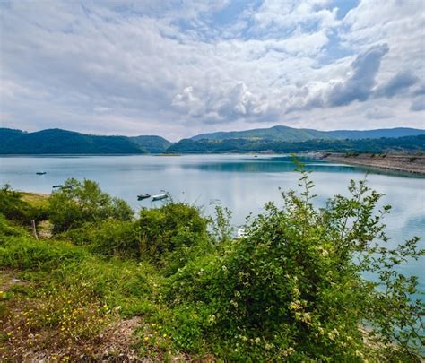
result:
[[[382,203],[393,206],[386,217],[390,245],[413,236],[425,237],[425,178],[406,176],[377,169],[353,167],[321,160],[305,160],[313,171],[317,205],[334,194],[346,194],[350,179],[364,179],[369,186],[385,194]],[[43,176],[37,171],[46,171]],[[259,213],[268,201],[282,201],[282,190],[296,188],[299,173],[287,156],[186,155],[186,156],[63,156],[2,157],[0,183],[9,183],[24,191],[50,193],[51,186],[66,178],[89,178],[114,196],[121,197],[134,209],[161,202],[137,202],[137,194],[168,191],[175,200],[203,205],[219,200],[233,211],[233,223],[240,225],[249,212]],[[425,242],[421,240],[421,246]],[[420,276],[424,291],[424,260],[403,267],[406,273]]]

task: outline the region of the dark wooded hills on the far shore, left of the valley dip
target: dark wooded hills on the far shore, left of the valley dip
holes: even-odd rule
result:
[[[159,136],[97,136],[61,129],[26,133],[0,128],[0,154],[141,154],[162,152],[165,146],[169,142]]]

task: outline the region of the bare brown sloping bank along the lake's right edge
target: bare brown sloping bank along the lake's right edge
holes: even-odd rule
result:
[[[358,154],[346,155],[343,153],[323,153],[321,160],[338,161],[344,164],[360,165],[377,169],[402,171],[414,175],[425,176],[425,156],[423,155],[395,155],[395,154]]]

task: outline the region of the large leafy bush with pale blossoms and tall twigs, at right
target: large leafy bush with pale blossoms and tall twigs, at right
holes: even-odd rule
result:
[[[282,194],[282,209],[266,204],[247,225],[247,238],[189,262],[169,279],[169,303],[180,315],[190,304],[197,316],[173,327],[179,348],[191,349],[201,335],[226,359],[358,361],[396,350],[412,357],[412,345],[423,339],[417,329],[423,305],[412,299],[415,279],[394,267],[423,255],[417,239],[391,251],[377,245],[386,242],[380,220],[389,207],[375,215],[380,194],[363,182],[351,184],[351,197],[337,195],[321,210],[310,203],[308,176],[301,182],[300,195]],[[362,278],[371,271],[379,271],[378,282]],[[196,325],[195,341],[185,321]],[[397,341],[397,348],[377,353],[365,345],[365,321],[371,339],[386,347]]]

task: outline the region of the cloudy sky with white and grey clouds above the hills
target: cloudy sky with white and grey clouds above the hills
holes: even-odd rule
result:
[[[425,128],[424,0],[0,0],[0,125]]]

